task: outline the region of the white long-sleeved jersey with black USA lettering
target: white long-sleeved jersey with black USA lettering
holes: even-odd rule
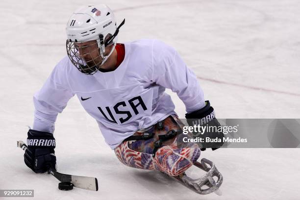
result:
[[[66,56],[34,95],[33,129],[53,132],[57,114],[76,95],[114,149],[137,130],[175,114],[165,88],[177,93],[187,112],[205,105],[196,75],[158,40],[125,43],[125,58],[112,72],[85,75]]]

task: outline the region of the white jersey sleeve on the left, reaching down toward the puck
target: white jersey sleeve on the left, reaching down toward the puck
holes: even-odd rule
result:
[[[55,66],[43,87],[33,97],[35,130],[53,133],[57,114],[63,111],[68,101],[75,95],[68,82],[68,59],[63,58]]]

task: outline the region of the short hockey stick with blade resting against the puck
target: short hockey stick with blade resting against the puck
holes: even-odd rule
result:
[[[21,148],[22,150],[27,149],[27,145],[23,141],[18,141],[17,147]],[[98,191],[98,180],[95,177],[61,174],[52,168],[49,169],[48,174],[53,175],[61,182],[72,182],[74,187]]]

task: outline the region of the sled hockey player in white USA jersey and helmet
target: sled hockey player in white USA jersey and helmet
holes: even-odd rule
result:
[[[106,5],[83,6],[72,14],[66,27],[67,55],[33,98],[34,124],[27,133],[25,164],[35,173],[55,167],[54,123],[76,95],[122,163],[159,170],[193,185],[191,179],[182,177],[198,163],[200,149],[205,147],[180,142],[183,124],[165,88],[184,102],[191,125],[219,125],[214,109],[204,101],[196,75],[174,48],[158,40],[117,43],[124,23],[117,26]],[[209,171],[205,164],[198,165]],[[214,172],[193,186],[196,192],[207,194],[221,185],[221,175],[214,166],[210,170]],[[211,178],[213,173],[221,179],[217,183]],[[200,189],[205,184],[210,188]]]

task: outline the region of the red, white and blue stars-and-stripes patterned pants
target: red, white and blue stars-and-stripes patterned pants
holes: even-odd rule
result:
[[[152,156],[154,142],[158,135],[165,135],[169,130],[179,131],[183,123],[176,115],[171,115],[164,120],[164,129],[158,130],[156,125],[134,133],[142,135],[145,131],[153,132],[154,137],[148,140],[124,141],[115,153],[125,165],[138,169],[159,170],[168,175],[180,175],[191,167],[200,157],[200,147],[195,143],[178,142],[177,137],[163,142],[155,156]]]

